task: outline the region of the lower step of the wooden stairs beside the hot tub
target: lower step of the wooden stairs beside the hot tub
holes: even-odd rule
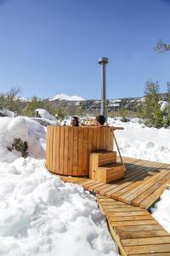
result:
[[[125,173],[125,167],[122,164],[113,164],[110,166],[98,167],[95,173],[95,179],[100,183],[110,183],[116,179],[122,178]]]

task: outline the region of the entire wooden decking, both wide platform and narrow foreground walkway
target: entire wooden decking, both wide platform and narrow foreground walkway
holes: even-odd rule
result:
[[[123,256],[170,256],[170,235],[147,211],[170,184],[170,165],[123,158],[127,172],[111,183],[60,176],[96,193],[111,235]]]

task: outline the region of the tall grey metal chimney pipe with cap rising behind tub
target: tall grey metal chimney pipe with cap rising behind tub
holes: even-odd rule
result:
[[[99,58],[99,64],[101,64],[101,109],[100,114],[105,116],[107,121],[107,109],[106,109],[106,83],[105,83],[105,65],[109,62],[106,57]]]

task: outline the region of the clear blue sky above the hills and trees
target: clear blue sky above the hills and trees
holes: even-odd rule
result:
[[[109,58],[107,98],[143,96],[170,81],[170,0],[0,0],[0,91],[100,97],[99,57]]]

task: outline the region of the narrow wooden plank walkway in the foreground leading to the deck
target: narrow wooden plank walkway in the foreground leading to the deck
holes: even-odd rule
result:
[[[150,212],[103,195],[97,201],[123,256],[170,255],[170,235]]]

